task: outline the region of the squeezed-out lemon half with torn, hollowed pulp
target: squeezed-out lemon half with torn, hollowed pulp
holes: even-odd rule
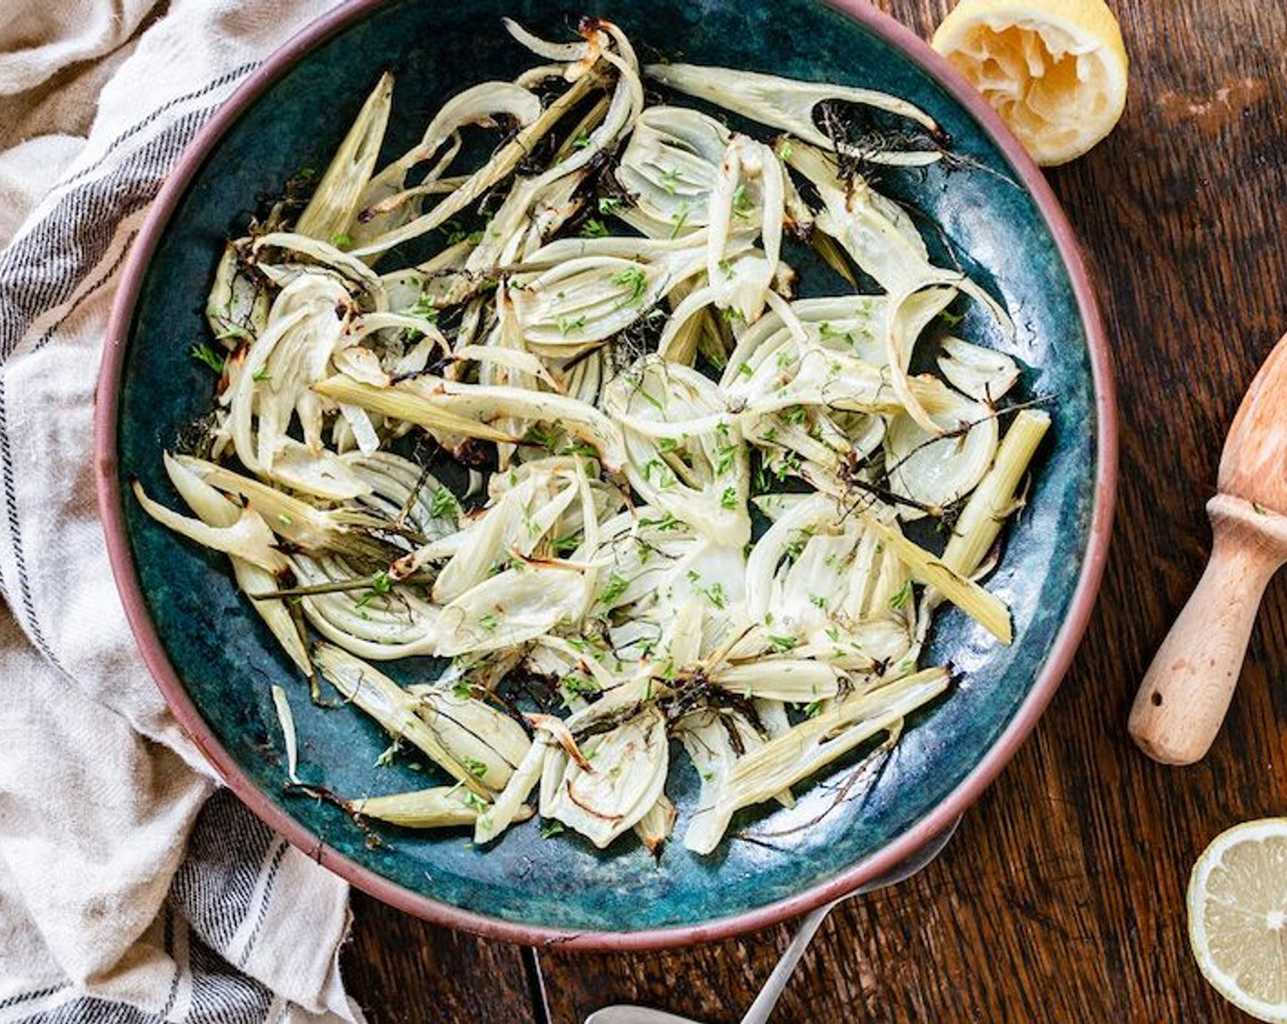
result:
[[[933,45],[1037,164],[1081,156],[1126,106],[1126,48],[1103,0],[961,0]]]

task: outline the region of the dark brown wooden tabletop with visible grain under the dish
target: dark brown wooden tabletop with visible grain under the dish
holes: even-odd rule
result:
[[[781,1024],[1245,1019],[1189,956],[1184,889],[1219,831],[1287,813],[1283,581],[1201,765],[1154,765],[1125,725],[1201,572],[1225,429],[1287,328],[1287,4],[1111,3],[1134,63],[1126,116],[1050,173],[1098,283],[1120,389],[1121,488],[1098,612],[1040,728],[937,863],[824,925]],[[929,36],[951,0],[879,5]],[[372,1024],[579,1024],[620,1001],[735,1021],[790,934],[646,956],[534,953],[359,894],[354,912],[345,967]]]

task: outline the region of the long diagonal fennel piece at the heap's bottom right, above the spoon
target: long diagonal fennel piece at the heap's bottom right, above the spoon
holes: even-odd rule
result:
[[[713,802],[694,814],[683,845],[694,853],[710,853],[736,811],[772,799],[864,741],[894,728],[943,693],[949,681],[945,668],[927,668],[849,697],[748,752],[728,770],[718,792],[712,793]]]

